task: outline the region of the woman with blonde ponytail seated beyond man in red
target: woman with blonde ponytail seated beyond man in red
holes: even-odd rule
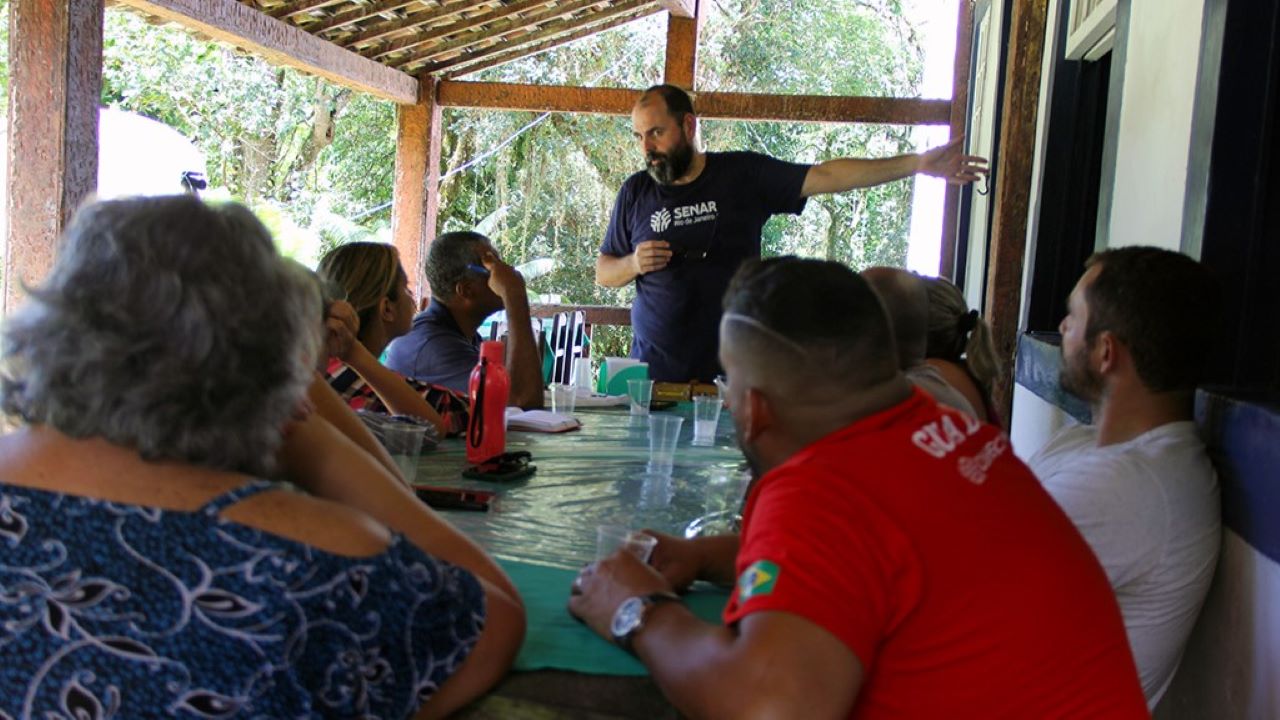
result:
[[[978,419],[1002,425],[991,402],[991,388],[1004,374],[991,328],[965,304],[964,293],[945,278],[925,278],[929,291],[929,334],[925,363],[973,405]]]

